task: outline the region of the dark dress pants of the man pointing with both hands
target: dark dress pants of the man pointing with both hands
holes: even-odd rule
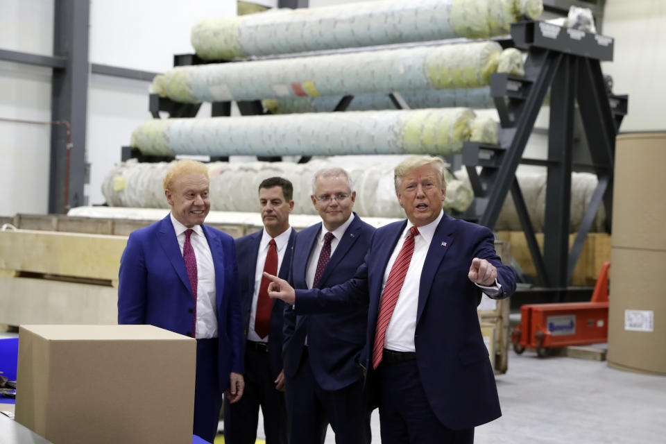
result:
[[[435,416],[416,359],[382,361],[375,371],[382,444],[472,444],[474,428],[453,430]]]

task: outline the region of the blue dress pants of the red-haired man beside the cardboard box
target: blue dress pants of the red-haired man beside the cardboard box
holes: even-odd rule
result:
[[[196,340],[193,433],[210,443],[217,434],[222,407],[217,350],[217,338]]]

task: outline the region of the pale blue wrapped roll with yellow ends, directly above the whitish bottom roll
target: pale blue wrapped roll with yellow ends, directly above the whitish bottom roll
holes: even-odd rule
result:
[[[144,155],[450,155],[469,140],[497,143],[490,130],[470,137],[476,119],[470,108],[153,119],[131,145]]]

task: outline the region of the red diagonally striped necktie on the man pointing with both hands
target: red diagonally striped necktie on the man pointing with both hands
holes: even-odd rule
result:
[[[404,276],[407,275],[409,269],[409,262],[411,255],[414,253],[414,237],[418,235],[418,228],[412,227],[409,230],[407,238],[404,239],[404,244],[395,258],[391,272],[388,273],[386,285],[382,293],[382,301],[379,302],[379,314],[377,315],[377,329],[375,330],[375,346],[373,347],[373,368],[377,368],[379,363],[382,362],[384,355],[384,336],[386,336],[386,327],[388,322],[391,321],[391,315],[395,308],[395,303],[398,302],[400,289],[404,283]]]

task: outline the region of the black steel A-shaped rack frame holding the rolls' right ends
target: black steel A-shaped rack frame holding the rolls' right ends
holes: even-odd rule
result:
[[[515,45],[527,51],[525,76],[493,74],[490,91],[499,112],[499,146],[466,143],[466,165],[475,205],[466,214],[493,228],[506,195],[511,192],[527,244],[543,287],[566,289],[601,201],[608,229],[613,202],[615,136],[626,114],[627,96],[606,90],[602,60],[613,59],[613,40],[590,33],[553,28],[543,22],[521,22],[511,28]],[[550,88],[547,160],[522,159],[527,139]],[[574,110],[578,104],[598,185],[569,249]],[[519,164],[547,169],[543,255],[515,178]],[[477,171],[477,167],[481,171]]]

